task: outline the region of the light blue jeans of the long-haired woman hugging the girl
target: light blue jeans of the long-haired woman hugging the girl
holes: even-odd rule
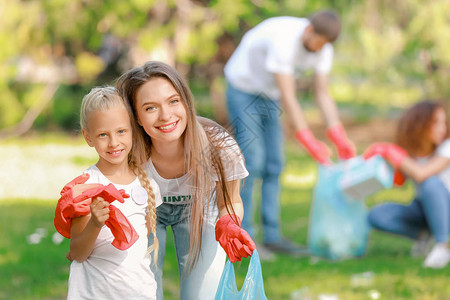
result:
[[[163,203],[156,209],[156,214],[156,236],[159,241],[158,267],[155,268],[155,265],[151,264],[151,269],[155,274],[158,285],[156,299],[162,300],[164,298],[162,270],[166,252],[166,227],[170,226],[175,240],[175,251],[180,274],[180,299],[213,300],[226,259],[225,251],[215,238],[216,217],[209,217],[205,220],[200,257],[194,269],[189,273],[184,270],[189,255],[190,243],[190,220],[187,217],[186,205]],[[153,235],[150,234],[149,245],[152,243]]]

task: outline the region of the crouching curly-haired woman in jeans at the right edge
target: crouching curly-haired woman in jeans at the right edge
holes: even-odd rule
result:
[[[444,106],[422,101],[409,108],[397,129],[398,145],[379,143],[365,152],[366,158],[383,156],[394,168],[410,177],[416,196],[409,205],[381,204],[372,209],[369,222],[376,229],[416,240],[412,255],[435,245],[424,267],[443,268],[450,261],[450,139]],[[401,148],[402,147],[402,148]]]

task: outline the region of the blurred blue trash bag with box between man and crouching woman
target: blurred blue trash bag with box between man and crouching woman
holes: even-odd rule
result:
[[[309,221],[308,248],[331,260],[364,255],[370,226],[364,197],[392,187],[392,168],[379,156],[320,166]]]

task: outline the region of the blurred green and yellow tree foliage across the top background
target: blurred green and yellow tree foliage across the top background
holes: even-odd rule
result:
[[[147,60],[174,65],[223,121],[223,66],[242,35],[323,8],[343,21],[330,85],[338,102],[450,98],[449,0],[0,0],[0,137],[75,128],[84,93]]]

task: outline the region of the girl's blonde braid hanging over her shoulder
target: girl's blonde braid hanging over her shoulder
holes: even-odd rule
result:
[[[142,166],[138,165],[134,160],[130,162],[130,167],[136,175],[139,178],[139,181],[141,182],[141,185],[144,187],[144,189],[147,191],[148,194],[148,212],[146,215],[146,221],[147,221],[147,227],[150,224],[150,232],[153,234],[153,244],[148,248],[147,253],[153,252],[153,259],[155,266],[157,266],[158,261],[158,249],[159,249],[159,242],[158,238],[156,237],[156,205],[155,205],[155,193],[153,191],[153,188],[150,184],[150,180],[148,179],[147,173],[144,171]],[[149,232],[149,234],[150,234]]]

